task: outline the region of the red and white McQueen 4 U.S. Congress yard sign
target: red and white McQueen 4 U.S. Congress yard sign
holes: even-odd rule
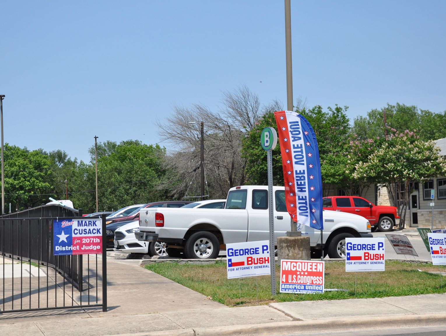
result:
[[[324,292],[325,262],[281,260],[280,292],[314,294]]]

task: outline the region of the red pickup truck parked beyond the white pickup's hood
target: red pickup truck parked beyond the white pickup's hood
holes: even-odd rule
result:
[[[376,228],[383,232],[392,231],[395,219],[400,218],[395,206],[376,206],[359,196],[323,197],[323,209],[359,214],[368,219],[372,231]]]

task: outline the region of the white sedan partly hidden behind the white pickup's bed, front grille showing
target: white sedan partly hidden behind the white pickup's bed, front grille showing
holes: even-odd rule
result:
[[[226,200],[207,200],[186,204],[182,208],[224,209]],[[150,244],[136,239],[135,232],[139,231],[139,221],[133,221],[119,227],[115,231],[115,251],[127,253],[148,254],[150,256],[166,256],[164,243]]]

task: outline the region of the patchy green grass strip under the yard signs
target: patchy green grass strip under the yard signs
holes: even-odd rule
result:
[[[386,261],[384,272],[345,272],[345,262],[327,261],[325,289],[342,291],[326,291],[323,294],[277,293],[275,296],[271,295],[270,276],[227,279],[226,261],[207,265],[162,262],[146,265],[145,268],[229,307],[270,302],[382,298],[446,292],[446,277],[429,273],[446,273],[446,267],[414,262]],[[276,272],[279,290],[278,265]]]

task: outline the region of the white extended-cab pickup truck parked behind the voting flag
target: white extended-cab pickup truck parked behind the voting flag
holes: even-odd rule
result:
[[[273,187],[274,237],[290,231],[285,205],[285,187]],[[371,232],[367,219],[356,214],[323,211],[323,233],[312,227],[302,229],[310,236],[312,257],[345,258],[345,238]],[[268,187],[245,185],[231,188],[225,209],[147,208],[140,210],[138,240],[165,243],[169,256],[214,259],[225,244],[269,240]]]

